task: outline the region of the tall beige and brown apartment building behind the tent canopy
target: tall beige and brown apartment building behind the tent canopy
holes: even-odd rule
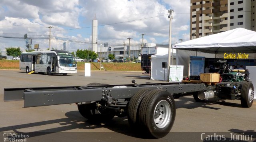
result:
[[[190,0],[190,39],[235,28],[256,31],[255,0]]]

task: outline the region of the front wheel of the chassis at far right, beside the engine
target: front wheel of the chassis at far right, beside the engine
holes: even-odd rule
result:
[[[246,82],[242,85],[241,90],[241,105],[244,108],[250,108],[253,103],[254,88],[251,82]]]

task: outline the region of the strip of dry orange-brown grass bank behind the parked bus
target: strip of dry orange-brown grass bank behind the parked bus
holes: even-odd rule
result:
[[[84,70],[84,63],[86,62],[77,62],[77,69]],[[87,62],[89,63],[89,62]],[[100,63],[90,62],[91,70],[100,70]],[[140,63],[102,63],[106,70],[116,70],[116,71],[141,71]],[[0,69],[19,69],[20,67],[19,60],[0,60]],[[104,70],[104,69],[102,69]]]

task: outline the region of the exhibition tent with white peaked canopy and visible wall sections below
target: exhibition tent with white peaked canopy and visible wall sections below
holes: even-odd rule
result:
[[[204,36],[174,44],[177,65],[184,65],[184,75],[188,75],[189,56],[224,58],[224,54],[246,53],[248,59],[256,57],[256,32],[236,28],[210,36]],[[177,50],[178,49],[178,50]]]

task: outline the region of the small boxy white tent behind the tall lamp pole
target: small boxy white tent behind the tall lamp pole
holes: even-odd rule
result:
[[[168,64],[168,54],[161,53],[151,56],[151,80],[168,79],[168,68],[162,68],[162,62]]]

